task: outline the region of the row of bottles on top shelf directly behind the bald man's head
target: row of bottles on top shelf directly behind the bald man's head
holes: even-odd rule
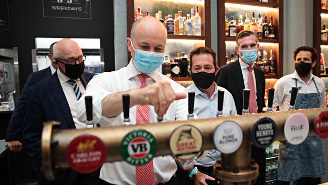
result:
[[[182,11],[178,11],[174,15],[168,14],[165,17],[165,20],[162,19],[161,11],[155,13],[155,17],[167,28],[168,35],[201,35],[201,17],[199,16],[199,8],[195,6],[194,9],[190,10],[190,14],[186,14],[186,17],[183,17]],[[140,19],[145,16],[151,16],[150,11],[147,11],[146,14],[141,13],[141,8],[138,8],[135,11],[134,20]]]

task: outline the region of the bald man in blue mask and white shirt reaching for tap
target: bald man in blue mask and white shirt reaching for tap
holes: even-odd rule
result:
[[[133,23],[131,38],[126,39],[132,56],[128,66],[95,76],[86,88],[84,96],[93,97],[94,122],[123,125],[124,94],[130,95],[130,124],[140,124],[140,117],[155,123],[157,115],[167,121],[187,119],[185,88],[156,71],[162,64],[166,41],[166,28],[154,17]],[[141,106],[148,111],[140,111]],[[79,120],[85,121],[84,99],[77,107]],[[145,166],[147,169],[139,173],[138,167],[125,161],[104,163],[100,178],[110,184],[177,184],[173,157],[154,157]]]

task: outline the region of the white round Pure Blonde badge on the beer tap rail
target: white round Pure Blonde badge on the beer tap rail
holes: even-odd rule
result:
[[[243,141],[243,131],[236,122],[225,121],[216,127],[213,140],[218,151],[231,154],[239,149]]]

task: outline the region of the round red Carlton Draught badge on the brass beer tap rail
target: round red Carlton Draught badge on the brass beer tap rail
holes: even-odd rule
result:
[[[99,169],[106,156],[105,144],[94,135],[75,137],[66,150],[68,164],[80,173],[90,173]]]

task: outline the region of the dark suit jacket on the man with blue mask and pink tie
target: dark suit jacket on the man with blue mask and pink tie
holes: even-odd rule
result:
[[[265,93],[265,78],[264,72],[258,67],[254,67],[255,80],[256,80],[256,95],[257,95],[257,112],[261,113],[264,104]],[[217,72],[216,84],[226,88],[234,98],[237,114],[242,114],[243,110],[243,89],[245,88],[244,78],[241,71],[239,60],[236,62],[224,65]]]

